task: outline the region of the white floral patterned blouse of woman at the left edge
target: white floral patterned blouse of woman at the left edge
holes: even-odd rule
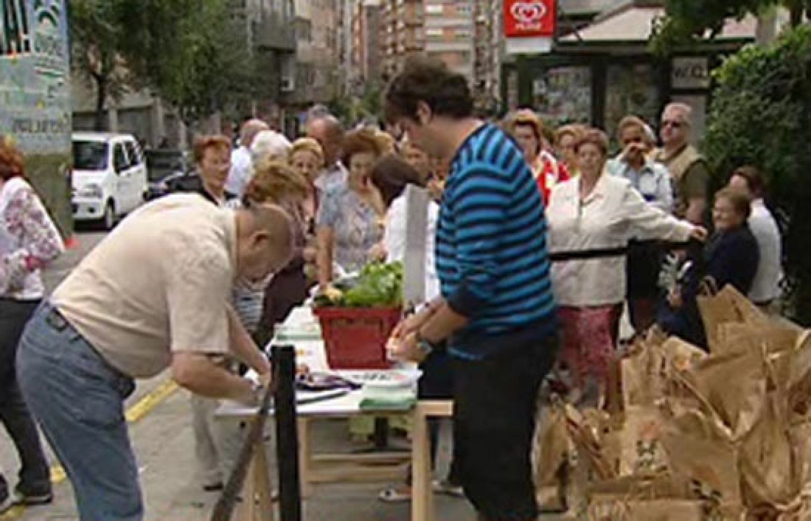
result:
[[[45,295],[40,269],[64,251],[62,237],[31,185],[15,177],[0,188],[0,296]]]

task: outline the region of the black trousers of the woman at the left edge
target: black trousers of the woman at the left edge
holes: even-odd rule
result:
[[[17,490],[27,495],[46,494],[51,490],[40,434],[19,390],[15,370],[19,338],[39,304],[39,300],[0,299],[0,421],[19,454]],[[0,474],[0,500],[8,492],[6,479]]]

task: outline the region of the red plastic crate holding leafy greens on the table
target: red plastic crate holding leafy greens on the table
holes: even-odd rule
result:
[[[331,369],[388,369],[386,341],[401,308],[315,308]]]

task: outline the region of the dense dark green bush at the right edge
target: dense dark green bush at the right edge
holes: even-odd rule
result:
[[[768,47],[749,45],[714,72],[717,87],[704,144],[714,171],[758,166],[770,204],[787,224],[785,269],[795,317],[811,323],[811,27]]]

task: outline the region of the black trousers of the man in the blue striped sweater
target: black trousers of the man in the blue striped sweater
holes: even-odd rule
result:
[[[508,342],[508,343],[506,343]],[[453,359],[453,442],[461,485],[482,519],[535,519],[530,450],[556,335],[505,341],[483,360]]]

